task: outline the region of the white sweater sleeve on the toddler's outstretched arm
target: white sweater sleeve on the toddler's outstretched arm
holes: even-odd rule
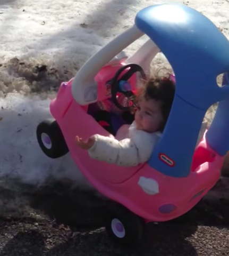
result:
[[[138,131],[131,139],[121,141],[111,137],[94,135],[96,142],[88,150],[91,158],[120,166],[136,166],[147,162],[158,140],[146,132]]]

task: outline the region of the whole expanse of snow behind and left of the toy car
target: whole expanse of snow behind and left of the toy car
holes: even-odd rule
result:
[[[61,79],[74,76],[101,46],[132,26],[143,7],[167,2],[171,1],[0,1],[0,178],[37,186],[50,178],[71,179],[90,188],[69,155],[53,160],[41,152],[36,126],[50,116],[49,98],[55,97],[53,88]],[[176,2],[205,14],[229,38],[226,0]],[[128,54],[145,40],[146,36],[129,46]],[[39,65],[56,73],[33,81]],[[160,54],[154,68],[162,67],[169,65]],[[213,116],[214,112],[208,116],[209,122]]]

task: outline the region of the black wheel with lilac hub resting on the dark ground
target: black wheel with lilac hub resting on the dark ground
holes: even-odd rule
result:
[[[138,215],[120,205],[109,212],[106,231],[116,244],[136,246],[142,242],[145,235],[145,222]]]

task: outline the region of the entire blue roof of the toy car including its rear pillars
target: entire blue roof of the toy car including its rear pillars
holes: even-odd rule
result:
[[[207,109],[229,97],[229,86],[216,83],[216,77],[229,70],[229,42],[213,22],[182,4],[147,7],[137,14],[135,24],[165,54],[176,76],[171,115],[149,165],[172,177],[187,177]],[[227,101],[220,103],[208,132],[210,145],[220,154],[229,146]]]

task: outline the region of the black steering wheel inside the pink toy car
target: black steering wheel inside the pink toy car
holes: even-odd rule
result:
[[[120,74],[127,68],[130,68],[120,79],[118,77]],[[112,100],[115,104],[115,106],[123,111],[131,111],[131,106],[124,107],[122,106],[118,100],[117,100],[117,93],[120,92],[125,95],[128,100],[130,100],[132,103],[134,103],[135,94],[131,90],[122,90],[120,89],[120,83],[126,82],[128,83],[128,80],[131,78],[131,76],[136,73],[140,72],[142,79],[146,79],[146,74],[142,67],[140,67],[137,64],[131,63],[126,66],[123,66],[122,68],[118,69],[115,76],[112,78],[111,81],[109,81],[109,84],[111,84],[111,94],[112,94]]]

